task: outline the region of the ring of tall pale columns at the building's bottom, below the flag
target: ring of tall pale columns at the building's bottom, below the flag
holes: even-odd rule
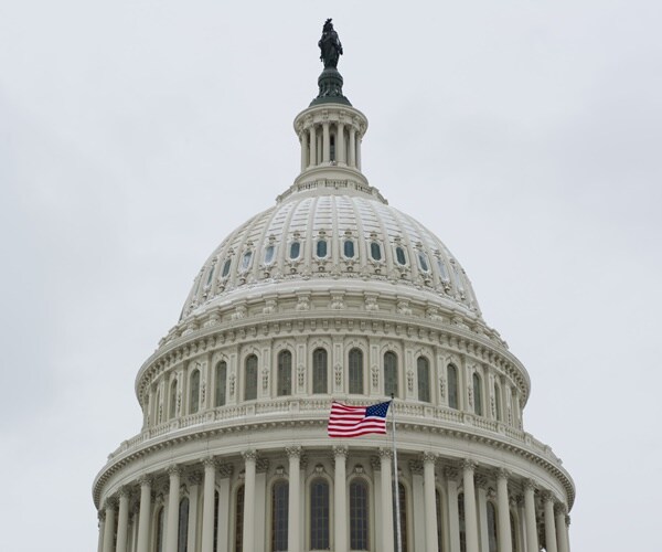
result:
[[[319,450],[310,453],[319,455]],[[375,528],[372,531],[374,542],[371,541],[369,549],[396,552],[393,539],[392,452],[380,448],[377,453],[378,457],[372,457],[371,460],[374,508],[372,523],[375,523]],[[362,459],[370,459],[364,453],[359,454]],[[331,449],[331,455],[333,518],[330,550],[349,552],[350,513],[346,508],[346,489],[350,449],[335,446]],[[287,518],[287,550],[302,552],[309,550],[305,527],[307,509],[302,508],[307,497],[302,482],[308,477],[305,469],[307,463],[302,463],[302,459],[307,455],[296,445],[287,447],[285,456],[289,468],[288,512],[296,512]],[[403,550],[538,552],[541,545],[544,545],[546,552],[569,552],[566,508],[552,491],[540,489],[532,480],[514,477],[505,469],[481,466],[471,459],[440,460],[438,455],[431,453],[403,456],[404,458],[399,458],[398,455],[401,461],[410,458],[410,477],[398,470],[398,481],[407,482],[412,492],[409,505],[414,511],[407,518],[408,521],[405,520],[409,524],[408,546]],[[151,476],[145,475],[134,485],[124,486],[108,497],[99,510],[98,552],[181,552],[184,550],[182,539],[186,543],[186,552],[238,552],[237,542],[245,552],[270,551],[271,541],[266,538],[269,495],[266,491],[265,466],[268,463],[260,461],[255,449],[243,452],[242,460],[235,460],[243,463],[243,469],[237,474],[237,477],[243,478],[244,486],[241,540],[237,534],[233,542],[228,538],[228,533],[235,531],[231,513],[234,505],[238,503],[231,492],[234,466],[221,465],[217,459],[210,457],[202,459],[201,465],[185,468],[175,465],[167,474],[160,471]],[[352,465],[355,469],[355,464]],[[316,469],[320,468],[321,465],[316,466]],[[167,487],[167,496],[159,500],[154,492],[158,480],[161,481],[159,489]],[[184,480],[189,484],[186,496],[190,509],[186,513],[186,534],[182,535],[180,489]],[[258,492],[258,489],[261,490]],[[442,492],[439,493],[441,489]],[[199,500],[200,493],[202,497]],[[460,495],[461,502],[458,501]],[[438,503],[440,496],[444,496],[442,505]],[[491,501],[496,511],[496,540],[492,543],[488,537],[488,501]],[[441,516],[439,506],[445,516]],[[154,516],[157,508],[162,508],[161,517]],[[513,508],[519,512],[519,522],[511,519]],[[236,518],[235,512],[235,521]],[[538,534],[544,535],[544,542],[538,543]],[[441,542],[439,535],[444,535]]]

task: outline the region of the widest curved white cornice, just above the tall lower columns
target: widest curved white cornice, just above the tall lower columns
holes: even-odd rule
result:
[[[151,453],[156,453],[158,450],[162,450],[162,449],[168,449],[171,448],[173,446],[180,445],[182,443],[190,443],[192,440],[202,440],[205,442],[207,439],[211,438],[215,438],[218,436],[222,436],[224,434],[236,434],[236,433],[250,433],[250,432],[255,432],[255,431],[275,431],[275,429],[281,429],[281,428],[287,428],[287,429],[293,429],[296,431],[297,428],[302,428],[302,427],[319,427],[320,429],[323,429],[323,427],[325,427],[328,421],[327,421],[327,415],[325,413],[323,415],[318,415],[317,417],[312,418],[303,418],[303,420],[269,420],[269,421],[255,421],[255,422],[246,422],[246,420],[243,421],[242,425],[221,425],[221,424],[216,424],[216,426],[207,426],[207,427],[203,427],[201,428],[200,426],[195,426],[195,427],[191,427],[189,431],[186,429],[182,429],[177,432],[177,434],[166,434],[166,435],[161,435],[158,437],[154,437],[152,439],[149,439],[148,442],[142,443],[140,446],[136,446],[134,449],[131,450],[127,450],[122,454],[119,454],[117,457],[113,458],[110,461],[108,461],[108,464],[102,469],[102,471],[97,475],[97,477],[95,478],[94,481],[94,486],[93,486],[93,499],[95,505],[98,508],[99,501],[100,501],[100,497],[102,497],[102,490],[104,488],[104,486],[106,485],[106,482],[109,480],[109,478],[120,471],[121,469],[124,469],[125,467],[139,461],[139,460],[143,460],[147,456],[149,456]],[[531,448],[527,447],[527,442],[531,442],[532,438],[528,434],[526,434],[526,442],[523,444],[517,444],[514,443],[512,439],[506,439],[506,438],[499,438],[495,435],[489,435],[487,433],[477,433],[477,432],[471,432],[468,431],[467,428],[457,426],[457,427],[451,427],[451,426],[446,426],[446,425],[440,425],[440,424],[431,424],[431,423],[426,423],[426,422],[417,422],[417,423],[413,423],[410,421],[404,421],[404,422],[398,422],[396,423],[397,426],[397,431],[398,432],[423,432],[423,433],[429,433],[429,434],[434,434],[434,435],[439,435],[439,436],[448,436],[448,437],[452,437],[452,438],[457,438],[457,439],[461,439],[461,440],[466,440],[466,442],[471,442],[471,443],[478,443],[478,444],[483,444],[487,445],[489,447],[491,447],[492,449],[498,449],[498,450],[502,450],[505,453],[510,453],[513,454],[515,456],[519,456],[521,458],[526,459],[530,463],[535,464],[536,466],[541,467],[542,469],[544,469],[547,474],[549,474],[553,478],[555,478],[556,480],[558,480],[560,482],[560,485],[563,486],[563,488],[566,491],[566,495],[568,497],[568,510],[572,509],[573,503],[575,501],[575,486],[573,482],[572,477],[569,476],[569,474],[558,464],[555,461],[552,461],[548,458],[545,458],[544,456],[542,456],[542,454],[536,453],[535,450],[532,450]],[[323,433],[323,432],[322,432]],[[322,435],[322,433],[320,435]],[[401,435],[403,435],[403,433],[401,433]],[[401,437],[402,439],[402,437]],[[363,446],[365,446],[364,443],[361,443],[359,439],[357,440],[357,445],[361,444]],[[374,445],[374,443],[371,442],[371,445]],[[404,445],[406,446],[406,445]],[[429,446],[429,445],[426,445]],[[276,448],[282,448],[281,445],[275,445]],[[266,453],[268,452],[269,448],[260,448],[260,453]],[[378,454],[382,454],[382,449],[377,450]],[[420,450],[412,450],[415,453],[420,453]],[[384,454],[388,454],[389,449],[384,449]],[[239,453],[241,454],[241,453]],[[445,453],[447,454],[447,453]],[[463,460],[465,459],[465,454],[460,450],[458,450],[458,460]],[[483,461],[483,464],[487,464]],[[489,466],[491,468],[498,468],[499,466]],[[512,474],[512,471],[511,471]]]

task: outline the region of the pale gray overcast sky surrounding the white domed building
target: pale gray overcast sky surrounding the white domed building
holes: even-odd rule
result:
[[[212,250],[298,173],[332,17],[363,166],[467,269],[577,485],[659,542],[662,3],[0,2],[2,549],[96,550],[92,481]]]

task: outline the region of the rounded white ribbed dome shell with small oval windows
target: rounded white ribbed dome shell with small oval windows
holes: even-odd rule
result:
[[[479,316],[448,248],[371,187],[321,179],[295,184],[227,236],[200,269],[182,318],[260,290],[349,286],[416,296]]]

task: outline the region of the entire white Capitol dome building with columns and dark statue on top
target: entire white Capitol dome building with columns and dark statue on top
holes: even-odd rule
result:
[[[446,245],[369,183],[330,20],[320,47],[300,174],[138,372],[142,427],[94,481],[98,551],[569,552],[575,488],[523,429],[528,374]],[[334,401],[391,397],[388,435],[328,435]]]

